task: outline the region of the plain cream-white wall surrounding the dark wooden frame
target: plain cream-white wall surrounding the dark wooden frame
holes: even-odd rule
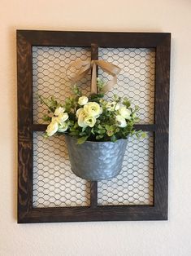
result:
[[[15,29],[171,32],[169,220],[16,223]],[[0,1],[0,255],[191,255],[191,2]]]

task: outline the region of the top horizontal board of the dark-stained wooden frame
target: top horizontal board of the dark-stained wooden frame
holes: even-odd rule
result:
[[[35,46],[156,47],[170,33],[72,32],[19,30]]]

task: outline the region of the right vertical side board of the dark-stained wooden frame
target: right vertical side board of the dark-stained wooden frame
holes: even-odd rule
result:
[[[154,135],[154,205],[167,219],[168,201],[168,126],[171,35],[156,48]]]

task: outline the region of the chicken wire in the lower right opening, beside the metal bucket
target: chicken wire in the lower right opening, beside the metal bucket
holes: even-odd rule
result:
[[[153,135],[130,137],[120,174],[98,182],[98,205],[153,204]]]

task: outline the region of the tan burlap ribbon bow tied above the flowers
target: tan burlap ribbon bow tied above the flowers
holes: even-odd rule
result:
[[[117,75],[119,74],[121,68],[116,66],[115,64],[112,64],[110,62],[106,62],[105,60],[76,60],[73,62],[69,67],[67,68],[76,68],[78,69],[78,72],[75,74],[74,77],[71,77],[72,82],[78,82],[83,77],[85,77],[89,70],[92,71],[92,79],[91,79],[91,94],[96,94],[98,92],[97,88],[97,66],[102,68],[102,70],[108,74],[110,74],[113,78],[106,83],[103,90],[111,90],[111,88],[116,84],[117,82]]]

